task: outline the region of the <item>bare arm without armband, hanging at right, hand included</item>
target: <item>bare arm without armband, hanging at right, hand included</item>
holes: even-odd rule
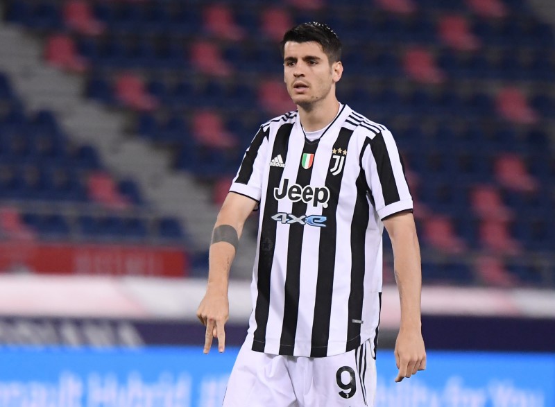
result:
[[[395,343],[395,361],[399,369],[395,381],[399,382],[426,368],[420,321],[420,248],[411,213],[403,212],[386,218],[384,226],[393,245],[395,281],[401,302],[401,324]]]

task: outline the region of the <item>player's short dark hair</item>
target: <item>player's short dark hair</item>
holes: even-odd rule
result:
[[[286,42],[317,42],[327,55],[330,63],[341,60],[341,41],[337,34],[326,24],[311,21],[291,28],[284,34],[280,47],[282,56]]]

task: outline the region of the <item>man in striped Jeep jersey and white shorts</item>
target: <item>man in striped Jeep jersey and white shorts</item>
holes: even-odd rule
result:
[[[395,381],[424,370],[420,252],[393,136],[336,98],[341,42],[325,24],[285,33],[284,80],[298,110],[262,125],[216,220],[197,316],[219,351],[228,273],[259,208],[248,335],[224,406],[373,406],[382,232],[401,302]]]

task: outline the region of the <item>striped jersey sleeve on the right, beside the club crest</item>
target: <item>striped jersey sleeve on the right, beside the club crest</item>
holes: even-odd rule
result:
[[[380,219],[413,209],[409,185],[391,132],[384,130],[366,139],[361,165]]]

